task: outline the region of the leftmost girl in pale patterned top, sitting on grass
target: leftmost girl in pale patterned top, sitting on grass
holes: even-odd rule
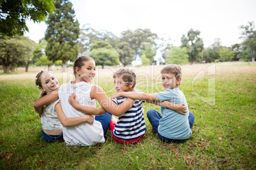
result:
[[[64,125],[59,121],[55,111],[55,105],[59,102],[59,82],[51,71],[40,70],[35,78],[36,86],[42,91],[40,98],[34,102],[33,107],[41,117],[42,138],[48,142],[63,141],[63,126],[75,126],[81,122],[92,124],[94,117],[83,115],[66,119]],[[59,110],[62,112],[62,110]]]

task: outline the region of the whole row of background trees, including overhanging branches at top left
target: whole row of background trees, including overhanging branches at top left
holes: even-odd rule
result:
[[[11,2],[14,1],[9,3]],[[28,30],[24,19],[20,24],[11,22],[6,13],[9,9],[9,14],[14,15],[11,13],[13,8],[8,5],[8,1],[0,2],[0,64],[4,73],[10,72],[10,69],[14,72],[15,67],[25,67],[27,71],[29,65],[50,67],[53,64],[62,65],[65,71],[67,63],[72,63],[81,55],[91,56],[96,65],[101,65],[102,68],[120,63],[125,67],[133,61],[139,61],[141,65],[153,65],[157,62],[192,64],[255,61],[256,30],[253,22],[241,25],[241,44],[225,47],[217,38],[211,46],[204,48],[201,32],[190,29],[181,37],[181,46],[173,46],[170,37],[158,36],[150,29],[125,30],[119,37],[107,30],[95,30],[89,24],[82,25],[80,29],[78,20],[75,20],[75,10],[69,0],[55,0],[54,4],[47,0],[47,5],[38,4],[41,5],[38,8],[40,12],[35,14],[34,11],[30,16],[22,13],[27,14],[25,10],[29,10],[30,6],[36,7],[37,3],[20,3],[22,5],[15,8],[22,10],[17,10],[20,15],[16,13],[15,16],[31,17],[35,22],[40,22],[49,13],[46,20],[47,29],[45,37],[38,44],[27,39],[23,36],[24,30]],[[10,27],[10,32],[7,27]],[[156,58],[157,50],[162,54],[159,58]]]

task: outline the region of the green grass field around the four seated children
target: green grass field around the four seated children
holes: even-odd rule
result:
[[[136,88],[162,91],[160,69],[132,67]],[[181,144],[164,143],[147,131],[139,143],[120,144],[110,137],[94,147],[68,147],[41,140],[41,124],[32,104],[39,90],[39,67],[0,74],[0,169],[256,169],[256,65],[208,63],[182,65],[180,89],[195,116],[192,136]],[[108,96],[115,92],[111,75],[118,68],[97,69],[95,84]],[[72,70],[53,69],[60,82],[73,79]],[[145,112],[160,107],[144,104]]]

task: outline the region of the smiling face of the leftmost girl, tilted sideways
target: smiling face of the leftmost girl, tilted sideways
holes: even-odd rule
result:
[[[41,75],[41,83],[41,91],[46,91],[46,93],[50,93],[53,90],[59,88],[59,82],[51,72],[43,72]]]

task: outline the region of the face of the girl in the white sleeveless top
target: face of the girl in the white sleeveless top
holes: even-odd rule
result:
[[[77,74],[80,74],[80,79],[85,82],[93,82],[96,73],[96,65],[94,60],[84,62],[84,65],[78,70]]]

